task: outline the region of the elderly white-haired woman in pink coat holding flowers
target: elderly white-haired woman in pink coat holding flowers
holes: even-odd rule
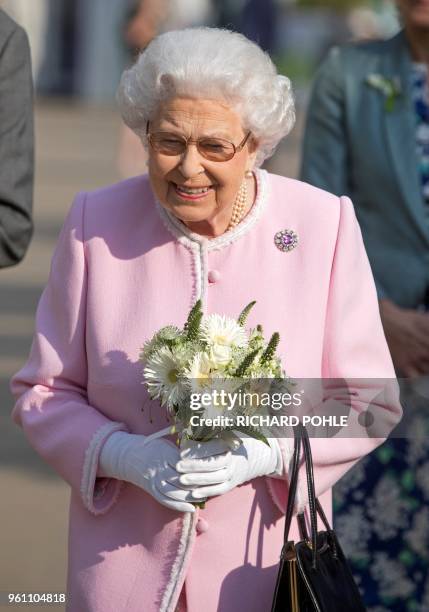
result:
[[[149,172],[77,196],[12,383],[13,418],[71,486],[70,611],[261,612],[291,445],[207,443],[188,457],[171,438],[143,445],[166,416],[149,409],[139,350],[183,325],[198,298],[230,316],[255,299],[249,325],[280,331],[290,376],[393,377],[359,226],[347,198],[259,169],[291,129],[293,101],[243,36],[159,36],[125,72],[119,100]],[[356,410],[367,404],[362,380],[353,397]],[[328,514],[333,483],[379,442],[313,441]],[[204,509],[192,503],[201,498]]]

